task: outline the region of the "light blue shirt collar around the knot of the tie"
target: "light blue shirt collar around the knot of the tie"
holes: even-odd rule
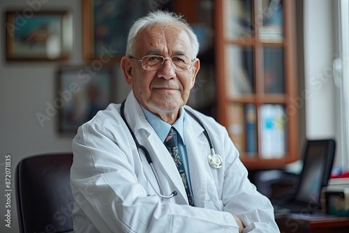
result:
[[[166,123],[165,121],[163,121],[160,117],[146,110],[142,105],[140,105],[140,107],[144,112],[145,118],[147,119],[151,127],[154,128],[161,142],[165,142],[165,139],[168,136],[168,133],[170,132],[171,127],[174,127],[177,130],[184,144],[185,111],[183,107],[181,107],[181,109],[179,110],[179,118],[177,119],[177,121],[174,122],[172,126],[169,123]]]

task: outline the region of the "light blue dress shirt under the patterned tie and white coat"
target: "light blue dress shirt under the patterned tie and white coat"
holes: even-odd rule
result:
[[[193,195],[193,190],[191,190],[191,174],[189,171],[188,155],[186,153],[186,143],[184,142],[184,121],[186,120],[186,117],[188,115],[184,112],[183,108],[181,108],[181,110],[179,110],[179,117],[177,121],[174,122],[174,124],[171,126],[169,123],[166,123],[165,121],[163,121],[160,117],[146,110],[142,105],[140,105],[140,107],[142,107],[145,118],[150,123],[151,127],[154,128],[161,142],[165,142],[165,139],[168,136],[168,133],[170,132],[171,127],[177,130],[178,136],[179,136],[178,137],[179,156],[181,157],[181,161],[184,165],[184,170],[186,170],[186,178],[188,179],[189,190],[191,192],[191,195]],[[194,199],[194,203],[195,203],[195,199]]]

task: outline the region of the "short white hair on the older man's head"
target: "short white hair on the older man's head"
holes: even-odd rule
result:
[[[127,38],[127,46],[126,46],[126,56],[133,57],[135,54],[135,43],[136,43],[136,37],[138,34],[138,31],[140,29],[145,27],[153,27],[156,26],[156,24],[171,24],[171,25],[177,25],[184,29],[186,33],[189,36],[190,42],[191,42],[191,56],[192,59],[195,59],[199,52],[199,42],[198,38],[195,35],[193,29],[189,26],[188,22],[184,20],[182,15],[163,11],[163,10],[156,10],[153,12],[149,12],[148,15],[140,18],[140,20],[136,21],[133,26],[130,29],[130,32],[128,33]]]

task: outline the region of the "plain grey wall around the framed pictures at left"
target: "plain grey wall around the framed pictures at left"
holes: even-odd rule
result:
[[[73,13],[74,42],[71,57],[66,63],[15,62],[5,60],[4,27],[0,33],[0,232],[18,232],[15,206],[15,166],[24,157],[38,153],[71,151],[73,135],[60,135],[57,118],[40,126],[36,113],[45,114],[46,102],[55,96],[56,72],[60,65],[81,65],[82,61],[82,13],[81,1],[71,0],[0,0],[0,25],[4,25],[4,12],[10,9],[30,8],[27,2],[39,2],[42,10],[70,10]],[[38,5],[36,5],[37,7]],[[126,97],[128,87],[121,73],[117,74],[114,100]],[[5,227],[6,200],[5,156],[11,155],[11,228]]]

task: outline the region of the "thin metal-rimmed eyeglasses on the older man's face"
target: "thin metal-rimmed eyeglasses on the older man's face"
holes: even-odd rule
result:
[[[135,57],[131,58],[136,59]],[[181,55],[173,56],[170,59],[165,59],[165,57],[158,55],[148,55],[137,60],[142,63],[142,67],[145,70],[159,70],[163,67],[165,60],[170,60],[175,70],[188,70],[193,66],[193,61],[195,61],[195,59]]]

